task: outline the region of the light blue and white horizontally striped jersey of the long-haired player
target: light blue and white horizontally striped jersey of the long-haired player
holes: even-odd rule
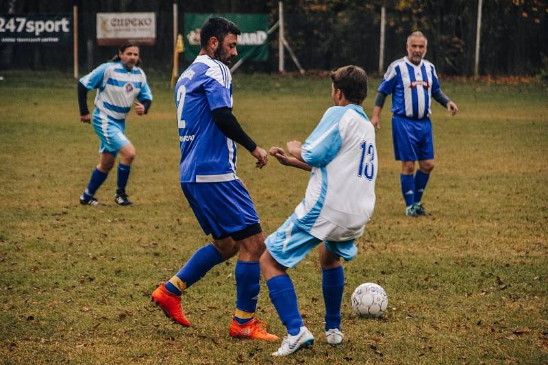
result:
[[[88,90],[97,89],[95,108],[114,121],[124,121],[135,99],[152,100],[147,75],[134,66],[127,70],[122,62],[101,64],[79,80]]]

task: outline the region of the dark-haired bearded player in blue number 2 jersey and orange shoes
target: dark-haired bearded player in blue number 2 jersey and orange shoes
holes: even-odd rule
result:
[[[236,142],[262,168],[267,153],[257,146],[232,114],[232,77],[227,65],[236,55],[238,27],[225,18],[210,18],[201,28],[201,50],[175,88],[181,148],[183,193],[212,243],[198,249],[179,272],[152,293],[152,300],[175,323],[190,322],[181,308],[182,291],[216,264],[238,253],[236,310],[229,335],[277,340],[255,318],[260,291],[259,257],[264,235],[253,201],[236,176]]]

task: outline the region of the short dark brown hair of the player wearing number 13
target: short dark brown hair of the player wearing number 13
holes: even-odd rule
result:
[[[367,74],[359,66],[343,66],[331,71],[331,81],[335,88],[345,94],[348,101],[361,104],[367,97]]]

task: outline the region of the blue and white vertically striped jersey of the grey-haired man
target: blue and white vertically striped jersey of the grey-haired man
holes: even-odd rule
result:
[[[378,89],[392,94],[392,112],[413,119],[424,119],[431,114],[432,94],[440,90],[436,68],[427,60],[419,66],[403,57],[388,66]]]

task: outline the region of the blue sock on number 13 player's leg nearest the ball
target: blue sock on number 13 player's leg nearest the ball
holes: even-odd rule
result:
[[[323,303],[325,303],[325,330],[340,329],[340,303],[345,290],[343,266],[322,269]]]

